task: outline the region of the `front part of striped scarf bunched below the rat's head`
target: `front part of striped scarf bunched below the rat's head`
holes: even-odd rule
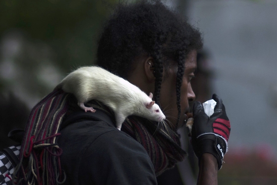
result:
[[[121,130],[145,148],[154,165],[156,176],[185,159],[186,152],[180,147],[179,134],[168,128],[167,124],[157,129],[157,122],[130,116]]]

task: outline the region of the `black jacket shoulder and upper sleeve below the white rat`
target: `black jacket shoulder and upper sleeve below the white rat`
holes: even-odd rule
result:
[[[115,126],[84,121],[67,126],[63,133],[59,140],[64,151],[61,162],[68,181],[97,185],[156,184],[146,150]]]

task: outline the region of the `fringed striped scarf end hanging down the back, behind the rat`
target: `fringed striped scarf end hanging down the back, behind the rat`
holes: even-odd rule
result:
[[[16,185],[56,185],[65,178],[60,167],[56,136],[68,109],[68,94],[54,90],[31,111],[19,154],[19,164],[13,173]]]

